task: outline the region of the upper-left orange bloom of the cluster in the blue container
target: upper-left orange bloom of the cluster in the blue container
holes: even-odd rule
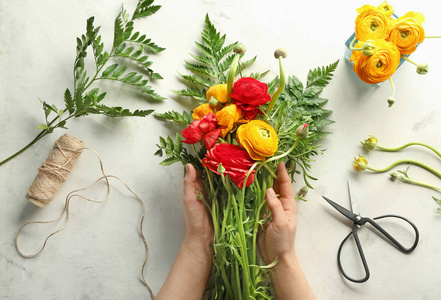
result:
[[[355,36],[359,41],[385,39],[389,35],[389,19],[372,5],[364,5],[357,9],[355,19]]]

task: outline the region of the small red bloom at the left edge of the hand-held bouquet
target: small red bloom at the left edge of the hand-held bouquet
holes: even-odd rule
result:
[[[201,139],[209,150],[213,148],[219,138],[220,129],[216,129],[217,121],[212,113],[206,114],[202,119],[193,121],[187,128],[182,130],[182,136],[186,144],[196,144]]]

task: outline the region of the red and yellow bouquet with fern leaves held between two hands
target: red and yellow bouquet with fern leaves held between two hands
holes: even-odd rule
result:
[[[174,140],[160,137],[156,155],[165,153],[162,165],[191,163],[202,173],[205,193],[199,199],[211,214],[215,232],[207,296],[272,299],[268,270],[277,261],[264,265],[256,244],[259,228],[270,217],[265,192],[273,186],[281,161],[292,180],[302,173],[311,187],[309,180],[315,178],[308,173],[310,162],[321,153],[316,142],[333,122],[327,118],[331,111],[323,108],[328,100],[319,95],[338,62],[310,71],[303,85],[295,76],[286,79],[286,51],[278,49],[280,77],[266,84],[260,80],[268,71],[242,76],[256,58],[240,62],[245,47],[224,46],[225,38],[207,16],[202,42],[196,43],[200,53],[192,55],[200,64],[186,62],[193,75],[181,77],[189,87],[174,91],[194,98],[199,106],[191,114],[157,114],[185,129]]]

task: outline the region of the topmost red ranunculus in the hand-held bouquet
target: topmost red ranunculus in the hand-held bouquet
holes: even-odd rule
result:
[[[244,116],[253,120],[259,113],[259,106],[268,103],[271,96],[268,94],[268,86],[251,77],[242,77],[233,85],[231,98],[237,106],[242,108]]]

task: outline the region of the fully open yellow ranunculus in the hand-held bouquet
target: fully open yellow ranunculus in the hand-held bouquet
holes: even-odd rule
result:
[[[277,151],[279,138],[274,128],[261,120],[252,120],[241,125],[236,133],[240,146],[247,150],[254,160],[265,160]]]

